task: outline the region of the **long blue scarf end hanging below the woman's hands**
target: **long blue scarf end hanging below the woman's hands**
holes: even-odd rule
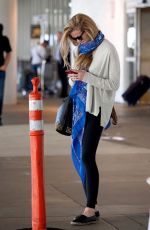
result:
[[[73,123],[72,123],[72,161],[75,169],[81,178],[85,188],[85,169],[82,163],[82,137],[85,124],[85,103],[86,103],[86,83],[76,81],[70,92],[73,99]]]

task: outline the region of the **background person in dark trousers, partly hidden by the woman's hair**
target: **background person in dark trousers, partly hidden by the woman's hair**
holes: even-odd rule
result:
[[[67,97],[68,96],[68,78],[65,73],[66,68],[64,67],[64,61],[60,54],[60,41],[61,41],[62,35],[63,33],[61,31],[58,31],[56,34],[57,46],[56,46],[56,52],[55,52],[54,58],[57,62],[58,78],[60,79],[61,85],[62,85],[60,97]]]

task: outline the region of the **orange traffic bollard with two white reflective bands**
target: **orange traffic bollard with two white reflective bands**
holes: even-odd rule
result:
[[[44,131],[43,101],[38,92],[40,80],[32,79],[33,91],[29,94],[30,152],[32,172],[32,230],[46,230],[46,209],[44,194]]]

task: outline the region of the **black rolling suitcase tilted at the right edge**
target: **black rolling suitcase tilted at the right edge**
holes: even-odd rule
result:
[[[141,75],[133,82],[129,88],[122,94],[123,99],[128,105],[136,105],[137,101],[150,88],[150,78]]]

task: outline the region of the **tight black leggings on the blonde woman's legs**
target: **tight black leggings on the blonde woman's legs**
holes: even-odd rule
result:
[[[86,123],[83,135],[83,152],[82,161],[86,171],[86,198],[87,207],[95,208],[97,204],[98,188],[99,188],[99,172],[96,165],[96,150],[103,131],[100,126],[100,113],[96,117],[90,113],[86,113]]]

